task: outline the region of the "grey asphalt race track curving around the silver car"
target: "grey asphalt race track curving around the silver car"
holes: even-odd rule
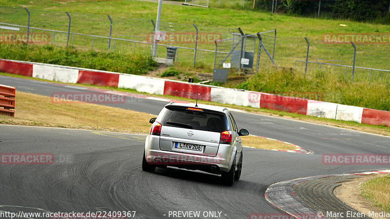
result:
[[[1,75],[0,84],[46,96],[82,90]],[[165,104],[128,97],[126,103],[112,106],[157,114]],[[222,212],[220,218],[244,219],[253,213],[284,213],[264,198],[272,183],[389,168],[324,165],[321,161],[324,153],[390,153],[388,137],[250,113],[233,114],[239,128],[310,149],[313,154],[244,148],[241,180],[231,187],[221,185],[218,176],[201,172],[159,168],[156,173],[143,172],[144,135],[2,125],[0,153],[51,153],[63,159],[49,165],[1,164],[0,214],[136,211],[136,218],[168,218],[169,211],[218,211]]]

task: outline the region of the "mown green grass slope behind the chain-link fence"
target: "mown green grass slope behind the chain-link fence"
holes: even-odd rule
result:
[[[184,0],[183,0],[184,2]],[[251,4],[252,1],[246,1]],[[71,32],[109,36],[110,21],[107,15],[113,19],[112,36],[117,38],[137,39],[147,41],[153,31],[150,19],[156,20],[157,4],[155,2],[137,0],[0,0],[1,21],[27,25],[27,13],[22,7],[28,7],[31,11],[32,27],[67,31],[68,17],[65,11],[72,16]],[[226,8],[216,8],[216,7]],[[312,49],[309,60],[317,58],[339,60],[343,64],[352,64],[353,48],[350,44],[333,45],[323,44],[321,39],[327,33],[389,33],[389,25],[372,23],[360,23],[348,20],[332,20],[325,18],[301,18],[288,15],[275,15],[266,12],[258,12],[246,6],[242,9],[242,1],[223,1],[221,5],[216,0],[211,1],[211,8],[189,7],[176,4],[163,4],[160,30],[169,33],[195,32],[192,25],[195,23],[200,32],[218,33],[223,38],[232,37],[232,28],[241,27],[245,33],[257,33],[277,30],[275,61],[279,66],[293,67],[294,60],[304,60],[306,55],[306,42],[303,37],[311,40]],[[16,7],[16,8],[9,8]],[[232,8],[237,8],[234,10]],[[340,26],[345,24],[346,26]],[[24,31],[24,29],[23,29]],[[42,31],[41,31],[42,32]],[[44,32],[44,31],[43,31]],[[237,32],[235,30],[235,32]],[[50,34],[58,45],[66,44],[66,34]],[[125,37],[131,36],[131,37]],[[106,51],[107,39],[99,39],[85,36],[71,36],[74,46],[86,49]],[[150,45],[116,41],[112,42],[111,51],[137,52],[143,55],[150,54]],[[114,45],[115,44],[115,45]],[[271,52],[273,38],[266,37],[264,44]],[[175,43],[176,46],[194,48],[191,43]],[[199,43],[199,49],[215,50],[213,41]],[[372,67],[377,69],[389,69],[387,62],[390,58],[389,45],[357,45],[358,55],[356,66]],[[164,47],[158,50],[158,56],[164,57]],[[192,50],[179,49],[179,62],[191,66],[194,52]],[[268,62],[264,56],[264,62]],[[212,72],[214,64],[213,52],[200,52],[197,62],[205,71]],[[198,67],[199,67],[198,66]],[[302,70],[302,64],[298,68]],[[311,66],[309,70],[317,69]],[[342,72],[344,69],[335,68]],[[194,70],[194,69],[193,69]],[[365,74],[367,71],[364,72]],[[375,72],[374,72],[375,73]],[[367,73],[368,74],[368,73]]]

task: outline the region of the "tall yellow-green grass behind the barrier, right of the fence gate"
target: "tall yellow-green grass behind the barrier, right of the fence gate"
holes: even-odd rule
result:
[[[305,77],[291,69],[262,71],[236,88],[285,96],[320,97],[316,100],[390,111],[390,99],[386,98],[390,96],[389,83],[351,83],[336,73],[317,71]]]

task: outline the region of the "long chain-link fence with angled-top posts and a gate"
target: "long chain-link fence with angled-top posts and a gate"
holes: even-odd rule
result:
[[[285,67],[305,73],[321,70],[345,79],[351,79],[353,73],[354,81],[390,82],[390,66],[386,61],[390,59],[389,34],[386,38],[386,34],[377,33],[383,36],[382,41],[351,40],[356,44],[354,58],[354,48],[342,34],[344,41],[337,41],[340,39],[337,34],[328,36],[336,38],[335,41],[327,41],[325,35],[323,40],[306,41],[304,37],[277,37],[276,30],[257,35],[240,33],[237,28],[171,22],[160,22],[159,33],[154,33],[155,23],[150,19],[11,7],[0,7],[0,15],[3,43],[28,40],[83,50],[156,54],[163,58],[167,57],[166,47],[176,47],[176,62],[205,72],[211,72],[214,65],[223,68],[224,63],[226,67],[229,63],[233,71]],[[359,33],[355,39],[372,35],[375,34]]]

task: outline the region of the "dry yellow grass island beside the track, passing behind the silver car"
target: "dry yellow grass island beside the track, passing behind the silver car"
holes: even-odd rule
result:
[[[50,97],[17,91],[15,117],[0,114],[0,124],[146,134],[151,117],[153,115],[145,112],[90,103],[55,104]],[[243,144],[261,149],[287,150],[291,147],[255,136],[244,137]]]

